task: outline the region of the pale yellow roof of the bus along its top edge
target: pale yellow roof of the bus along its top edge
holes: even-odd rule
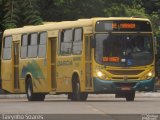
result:
[[[95,21],[99,20],[140,20],[140,21],[149,21],[146,18],[136,18],[136,17],[95,17],[91,19],[78,19],[76,21],[62,21],[62,22],[44,22],[43,25],[35,26],[24,26],[21,28],[13,28],[4,31],[4,36],[14,35],[14,34],[23,34],[39,31],[49,31],[56,29],[67,29],[73,27],[82,27],[82,26],[91,26]]]

